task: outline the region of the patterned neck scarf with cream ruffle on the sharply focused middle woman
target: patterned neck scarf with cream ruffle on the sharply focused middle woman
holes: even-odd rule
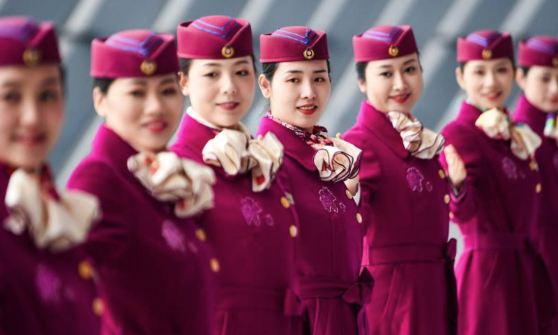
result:
[[[293,131],[296,136],[315,150],[312,159],[320,179],[336,183],[353,179],[359,174],[362,151],[353,144],[339,138],[329,137],[327,129],[322,126],[314,126],[310,133],[274,117],[271,111],[267,112],[266,117]]]

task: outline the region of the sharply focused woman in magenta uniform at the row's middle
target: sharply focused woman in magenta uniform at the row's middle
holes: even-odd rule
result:
[[[258,83],[270,110],[258,133],[285,147],[278,180],[299,222],[294,291],[310,334],[358,334],[372,278],[366,272],[359,282],[362,217],[342,181],[358,174],[361,151],[317,126],[331,94],[326,34],[285,27],[260,36],[260,47]]]

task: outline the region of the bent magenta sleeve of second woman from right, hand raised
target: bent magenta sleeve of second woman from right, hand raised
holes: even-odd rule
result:
[[[452,144],[458,151],[463,163],[465,163],[465,170],[467,170],[467,178],[458,193],[454,192],[453,186],[448,182],[451,196],[450,211],[453,213],[453,221],[455,223],[465,223],[473,218],[478,211],[477,183],[483,170],[481,148],[476,139],[476,134],[472,133],[469,128],[449,125],[444,128],[442,135],[446,137],[446,145]],[[447,170],[444,153],[440,154],[439,161]]]

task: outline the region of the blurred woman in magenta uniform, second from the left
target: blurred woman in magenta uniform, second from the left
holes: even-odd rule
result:
[[[121,31],[91,45],[93,103],[105,118],[68,188],[103,216],[86,249],[103,334],[211,334],[213,260],[188,218],[211,206],[210,169],[165,151],[183,98],[174,37]]]

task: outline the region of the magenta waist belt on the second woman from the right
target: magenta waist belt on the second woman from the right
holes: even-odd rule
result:
[[[529,238],[515,232],[485,232],[467,234],[463,237],[465,251],[486,249],[513,249],[527,251]]]

